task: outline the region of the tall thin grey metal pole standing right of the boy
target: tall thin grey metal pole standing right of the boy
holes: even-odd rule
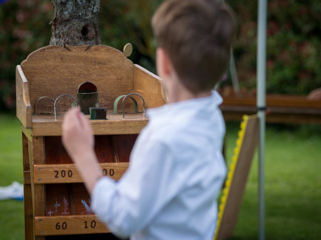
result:
[[[265,65],[266,65],[266,14],[267,0],[259,0],[257,24],[257,109],[259,116],[259,240],[265,239],[264,161],[265,161]]]

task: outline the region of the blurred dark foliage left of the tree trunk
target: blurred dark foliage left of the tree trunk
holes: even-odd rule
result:
[[[51,17],[48,0],[8,0],[0,5],[0,110],[16,106],[15,67],[48,45]]]

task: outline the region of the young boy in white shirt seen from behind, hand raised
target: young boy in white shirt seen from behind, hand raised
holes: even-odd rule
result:
[[[63,143],[91,193],[92,209],[117,236],[209,240],[226,174],[222,98],[212,89],[228,65],[234,19],[221,0],[166,0],[152,26],[169,100],[148,109],[149,122],[122,178],[102,176],[79,108],[65,115]]]

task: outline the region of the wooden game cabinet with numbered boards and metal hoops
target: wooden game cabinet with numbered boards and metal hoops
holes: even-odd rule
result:
[[[90,210],[90,196],[61,142],[63,111],[70,108],[72,99],[59,101],[61,115],[57,117],[50,100],[39,102],[34,112],[39,97],[76,96],[77,86],[87,80],[97,86],[99,103],[108,109],[108,120],[90,120],[95,151],[103,174],[116,180],[127,169],[131,148],[148,119],[142,113],[129,113],[124,119],[121,113],[112,114],[115,98],[137,92],[147,108],[165,103],[160,79],[110,46],[45,46],[17,65],[25,239],[114,239],[105,234],[109,230]],[[126,101],[125,112],[132,111],[130,101]]]

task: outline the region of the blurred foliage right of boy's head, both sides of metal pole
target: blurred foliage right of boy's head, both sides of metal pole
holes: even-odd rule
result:
[[[234,54],[240,84],[256,87],[257,1],[227,0],[237,17]],[[268,92],[307,94],[321,86],[321,1],[268,0]]]

